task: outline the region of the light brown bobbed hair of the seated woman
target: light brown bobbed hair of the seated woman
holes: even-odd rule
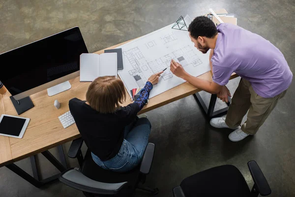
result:
[[[126,99],[123,82],[115,76],[96,78],[88,88],[86,100],[100,113],[114,113]]]

